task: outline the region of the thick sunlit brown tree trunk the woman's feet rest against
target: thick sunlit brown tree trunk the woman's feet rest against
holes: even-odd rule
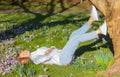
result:
[[[106,74],[120,74],[120,0],[89,0],[105,16],[108,33],[112,39],[115,61],[106,70]]]

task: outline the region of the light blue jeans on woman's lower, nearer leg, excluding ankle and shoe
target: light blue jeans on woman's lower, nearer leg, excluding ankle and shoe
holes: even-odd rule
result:
[[[78,35],[77,37],[70,39],[59,54],[59,61],[61,65],[67,65],[72,61],[75,50],[77,49],[80,42],[92,40],[97,37],[98,35],[96,34],[96,31],[93,31],[90,33]]]

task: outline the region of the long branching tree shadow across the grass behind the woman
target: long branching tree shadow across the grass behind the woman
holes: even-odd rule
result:
[[[54,0],[51,0],[51,2],[53,3]],[[74,6],[76,6],[76,5],[74,5]],[[40,14],[40,13],[35,13],[35,12],[30,11],[25,5],[19,5],[19,6],[25,12],[35,15],[35,18],[34,19],[29,19],[27,22],[21,23],[21,25],[19,25],[19,24],[18,25],[13,25],[12,29],[0,32],[0,41],[7,40],[7,39],[10,39],[10,38],[14,38],[14,37],[16,37],[16,36],[18,36],[20,34],[25,33],[26,31],[33,31],[33,30],[39,29],[39,28],[41,28],[43,26],[53,27],[53,26],[56,26],[58,24],[59,25],[67,25],[68,23],[74,24],[76,22],[85,21],[87,19],[87,18],[85,18],[85,19],[81,19],[81,20],[69,20],[69,18],[71,18],[71,17],[73,18],[73,16],[70,16],[70,17],[66,17],[62,21],[54,21],[54,22],[42,23],[42,21],[44,21],[46,18],[49,18],[50,16],[52,16],[54,14],[48,13],[48,14],[43,15],[43,14]],[[53,5],[51,5],[51,7],[52,6]],[[61,7],[63,8],[62,3],[61,3]]]

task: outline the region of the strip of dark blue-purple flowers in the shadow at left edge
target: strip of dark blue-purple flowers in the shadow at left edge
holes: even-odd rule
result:
[[[14,25],[12,29],[0,32],[0,41],[14,38],[26,31],[32,31],[33,29],[38,29],[38,25]]]

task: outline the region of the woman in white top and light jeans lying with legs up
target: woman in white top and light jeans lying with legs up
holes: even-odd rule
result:
[[[63,49],[57,49],[56,47],[41,47],[32,53],[29,51],[21,51],[18,53],[17,59],[22,64],[27,64],[31,59],[35,64],[68,65],[73,60],[74,53],[79,43],[98,38],[99,34],[106,35],[106,22],[104,22],[98,30],[86,33],[91,28],[92,22],[98,20],[97,10],[92,6],[91,17],[88,22],[81,28],[72,32]]]

